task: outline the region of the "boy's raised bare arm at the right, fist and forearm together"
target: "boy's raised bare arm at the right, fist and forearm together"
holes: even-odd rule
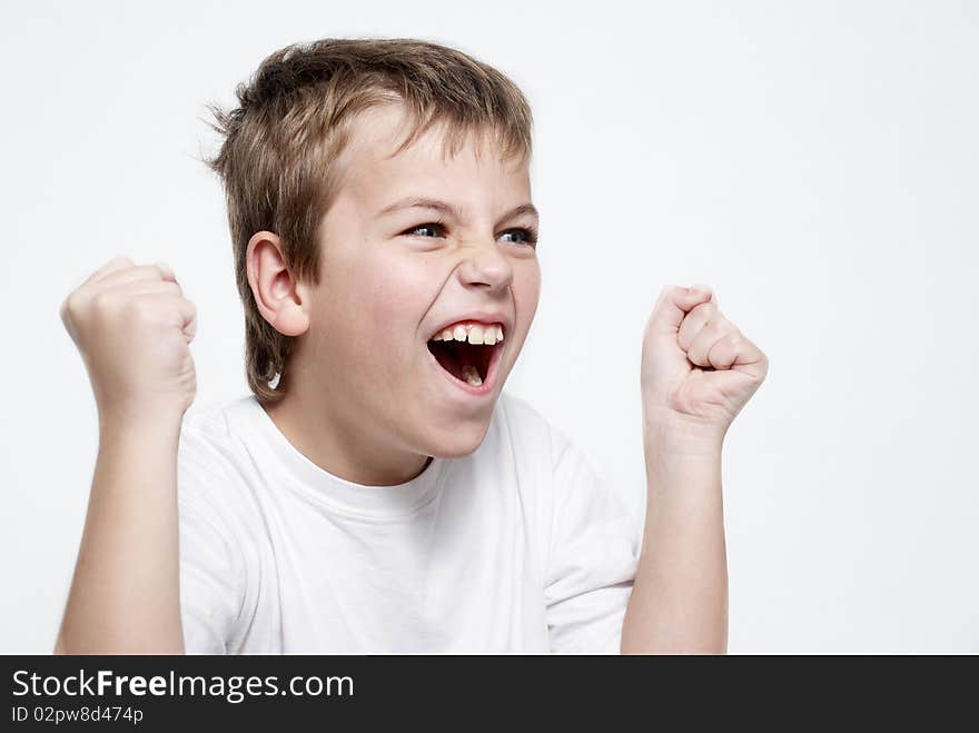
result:
[[[710,288],[663,288],[643,337],[649,494],[623,653],[726,651],[721,447],[767,374]]]

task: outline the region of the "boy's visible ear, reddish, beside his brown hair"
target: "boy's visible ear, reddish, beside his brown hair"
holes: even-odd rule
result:
[[[281,238],[271,231],[254,234],[245,250],[245,270],[263,318],[286,336],[305,334],[309,298],[286,267]]]

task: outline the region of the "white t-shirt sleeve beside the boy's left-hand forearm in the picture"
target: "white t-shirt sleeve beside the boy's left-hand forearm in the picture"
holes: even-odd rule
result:
[[[187,654],[229,654],[245,603],[245,565],[219,511],[228,475],[196,430],[181,430],[177,460],[180,615]],[[222,491],[224,489],[224,491]]]

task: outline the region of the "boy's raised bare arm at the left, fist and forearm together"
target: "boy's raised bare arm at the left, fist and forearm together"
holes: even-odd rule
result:
[[[99,453],[55,652],[181,653],[177,447],[196,308],[167,266],[117,257],[61,319],[89,373]]]

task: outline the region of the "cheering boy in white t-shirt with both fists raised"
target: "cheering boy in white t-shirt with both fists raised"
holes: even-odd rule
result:
[[[516,87],[327,39],[238,100],[210,165],[253,394],[184,420],[196,311],[165,265],[69,296],[100,447],[56,651],[724,651],[721,444],[767,359],[710,291],[664,288],[644,335],[640,543],[502,393],[541,278]]]

